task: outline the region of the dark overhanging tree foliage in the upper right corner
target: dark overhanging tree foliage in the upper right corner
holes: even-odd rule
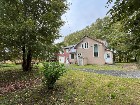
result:
[[[107,4],[113,0],[108,0]],[[126,31],[129,42],[127,43],[135,56],[140,56],[140,0],[116,0],[114,6],[108,11],[112,23],[120,21]]]

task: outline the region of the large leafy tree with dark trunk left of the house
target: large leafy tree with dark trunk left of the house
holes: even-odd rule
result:
[[[32,57],[43,45],[59,37],[66,9],[66,0],[0,0],[0,39],[22,51],[23,71],[31,70]]]

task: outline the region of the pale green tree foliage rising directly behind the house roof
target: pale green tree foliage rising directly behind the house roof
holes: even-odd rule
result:
[[[127,44],[129,38],[127,37],[127,33],[122,29],[123,24],[117,22],[110,25],[110,21],[110,17],[97,19],[90,26],[66,36],[64,43],[66,45],[77,44],[85,35],[91,38],[106,40],[108,47],[114,52],[114,61],[130,62],[131,58],[135,58],[136,55]]]

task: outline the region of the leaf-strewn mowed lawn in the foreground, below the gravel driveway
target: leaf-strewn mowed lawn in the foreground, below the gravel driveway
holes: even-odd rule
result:
[[[5,79],[12,83],[43,76],[38,71],[26,74],[18,70],[1,75],[1,82]],[[140,105],[140,79],[68,70],[53,90],[47,90],[41,82],[33,83],[0,95],[0,105]]]

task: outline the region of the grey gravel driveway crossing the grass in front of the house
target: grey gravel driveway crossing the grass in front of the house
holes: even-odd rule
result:
[[[124,78],[140,78],[140,71],[122,71],[122,70],[92,70],[92,69],[74,69],[80,70],[85,72],[93,72],[97,74],[105,74],[105,75],[112,75]]]

